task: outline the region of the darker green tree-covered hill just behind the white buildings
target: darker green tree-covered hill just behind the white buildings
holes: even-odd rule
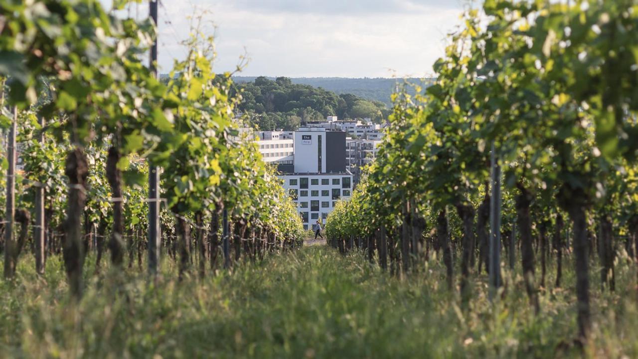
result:
[[[259,130],[296,130],[308,121],[326,116],[340,119],[370,118],[381,123],[390,109],[385,103],[350,93],[337,95],[323,88],[295,84],[288,77],[256,77],[254,80],[235,79],[235,91],[241,91],[243,101],[238,109],[248,115],[245,125]]]

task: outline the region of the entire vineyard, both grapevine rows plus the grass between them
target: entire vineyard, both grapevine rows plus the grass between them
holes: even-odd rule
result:
[[[634,0],[465,11],[303,248],[203,15],[159,80],[150,10],[0,0],[0,357],[638,356]]]

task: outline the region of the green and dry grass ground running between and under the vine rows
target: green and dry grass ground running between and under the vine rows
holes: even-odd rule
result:
[[[90,275],[78,305],[67,296],[59,261],[48,261],[44,280],[32,267],[23,259],[16,283],[0,281],[0,358],[581,356],[572,344],[571,271],[565,289],[542,292],[535,316],[520,278],[507,273],[502,300],[491,305],[479,277],[462,309],[438,261],[398,280],[324,246],[203,281],[172,280],[168,262],[154,285],[137,270],[118,280]],[[613,294],[601,294],[593,280],[595,328],[586,356],[638,356],[634,264],[621,260],[616,275]]]

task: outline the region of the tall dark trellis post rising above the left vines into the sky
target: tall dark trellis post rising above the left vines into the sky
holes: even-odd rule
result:
[[[158,2],[157,0],[149,1],[149,10],[156,33],[151,46],[151,63],[149,68],[155,77],[157,77],[156,63],[158,61]],[[159,263],[160,248],[160,229],[159,229],[159,172],[158,167],[149,162],[149,272],[156,275]]]

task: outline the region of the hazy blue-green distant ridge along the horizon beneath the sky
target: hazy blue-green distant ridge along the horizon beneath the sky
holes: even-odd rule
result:
[[[266,77],[269,80],[274,80],[275,77]],[[235,76],[236,82],[253,82],[256,77],[249,76]],[[296,77],[290,79],[293,84],[306,84],[315,88],[323,88],[328,91],[332,91],[338,95],[344,93],[351,93],[366,100],[376,100],[385,103],[390,107],[390,95],[395,91],[397,84],[401,84],[403,81],[410,83],[421,84],[422,79],[408,78],[408,79],[384,79],[384,78],[363,78],[352,79],[346,77]],[[431,82],[431,79],[426,79],[426,83]]]

